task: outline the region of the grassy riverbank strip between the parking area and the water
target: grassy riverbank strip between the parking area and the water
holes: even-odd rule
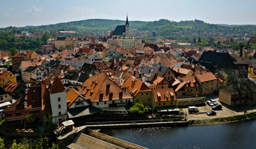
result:
[[[237,116],[222,117],[222,118],[197,119],[197,120],[193,119],[189,121],[189,126],[226,124],[226,123],[233,123],[238,121],[247,121],[255,118],[256,118],[256,112],[246,113],[246,114],[237,115]]]

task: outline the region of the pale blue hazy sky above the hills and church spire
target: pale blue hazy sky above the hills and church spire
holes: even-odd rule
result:
[[[87,19],[256,25],[256,0],[1,0],[0,28]]]

